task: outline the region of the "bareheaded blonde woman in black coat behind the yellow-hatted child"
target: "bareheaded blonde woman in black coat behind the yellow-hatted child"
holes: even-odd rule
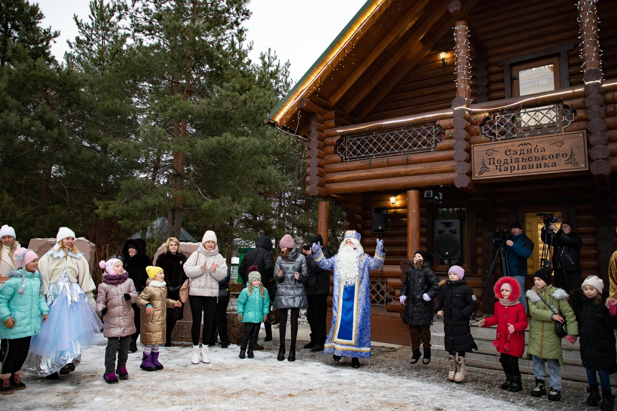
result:
[[[184,274],[184,263],[186,255],[180,249],[180,241],[175,237],[170,237],[165,242],[162,254],[159,255],[154,264],[156,267],[163,268],[165,273],[165,283],[167,286],[167,298],[180,301],[180,288],[184,281],[188,280]],[[181,302],[181,301],[180,301]],[[165,347],[172,346],[172,331],[176,322],[181,320],[184,313],[184,303],[181,307],[167,309],[167,339]]]

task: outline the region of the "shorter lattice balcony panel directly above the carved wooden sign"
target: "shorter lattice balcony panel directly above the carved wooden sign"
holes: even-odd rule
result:
[[[568,106],[551,104],[516,111],[490,113],[482,132],[492,141],[563,133],[574,120]]]

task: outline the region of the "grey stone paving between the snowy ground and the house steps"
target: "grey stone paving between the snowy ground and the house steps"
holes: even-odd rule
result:
[[[259,343],[263,344],[266,350],[278,352],[278,338],[273,341],[263,342],[263,330],[259,338]],[[289,330],[288,333],[289,334]],[[316,361],[333,365],[333,367],[351,367],[350,360],[341,359],[341,362],[334,362],[331,355],[321,354],[321,352],[310,352],[302,349],[307,341],[298,341],[296,359]],[[289,342],[288,342],[289,344]],[[438,395],[439,386],[452,386],[456,384],[460,389],[473,392],[474,394],[489,396],[494,399],[508,401],[512,404],[526,406],[536,410],[589,410],[585,404],[587,399],[586,384],[576,381],[562,381],[561,401],[549,401],[547,396],[541,398],[532,397],[529,392],[534,386],[532,375],[523,375],[523,391],[508,392],[501,389],[501,384],[505,380],[503,372],[494,370],[484,370],[482,368],[468,367],[467,378],[463,383],[454,383],[447,379],[449,366],[445,359],[433,358],[429,365],[420,362],[412,365],[409,360],[412,356],[410,347],[381,347],[373,346],[371,349],[372,358],[370,360],[360,360],[361,369],[366,372],[385,373],[400,378],[418,379],[423,382],[436,384],[435,391],[429,395]],[[378,389],[378,388],[377,388]],[[481,406],[478,409],[482,409]],[[596,407],[595,409],[599,409]]]

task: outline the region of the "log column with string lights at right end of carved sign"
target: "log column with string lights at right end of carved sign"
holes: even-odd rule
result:
[[[596,189],[610,190],[610,150],[607,144],[596,2],[597,0],[578,1],[587,138],[590,145],[589,169],[594,176]]]

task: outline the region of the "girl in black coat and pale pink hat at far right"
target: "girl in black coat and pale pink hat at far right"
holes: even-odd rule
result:
[[[600,390],[596,373],[602,385],[601,410],[612,410],[615,396],[611,393],[610,375],[617,372],[617,351],[615,350],[615,328],[617,315],[611,315],[602,296],[604,283],[595,275],[588,276],[578,288],[569,295],[568,302],[574,310],[579,324],[581,343],[581,362],[587,369],[589,397],[587,405],[598,406]]]

